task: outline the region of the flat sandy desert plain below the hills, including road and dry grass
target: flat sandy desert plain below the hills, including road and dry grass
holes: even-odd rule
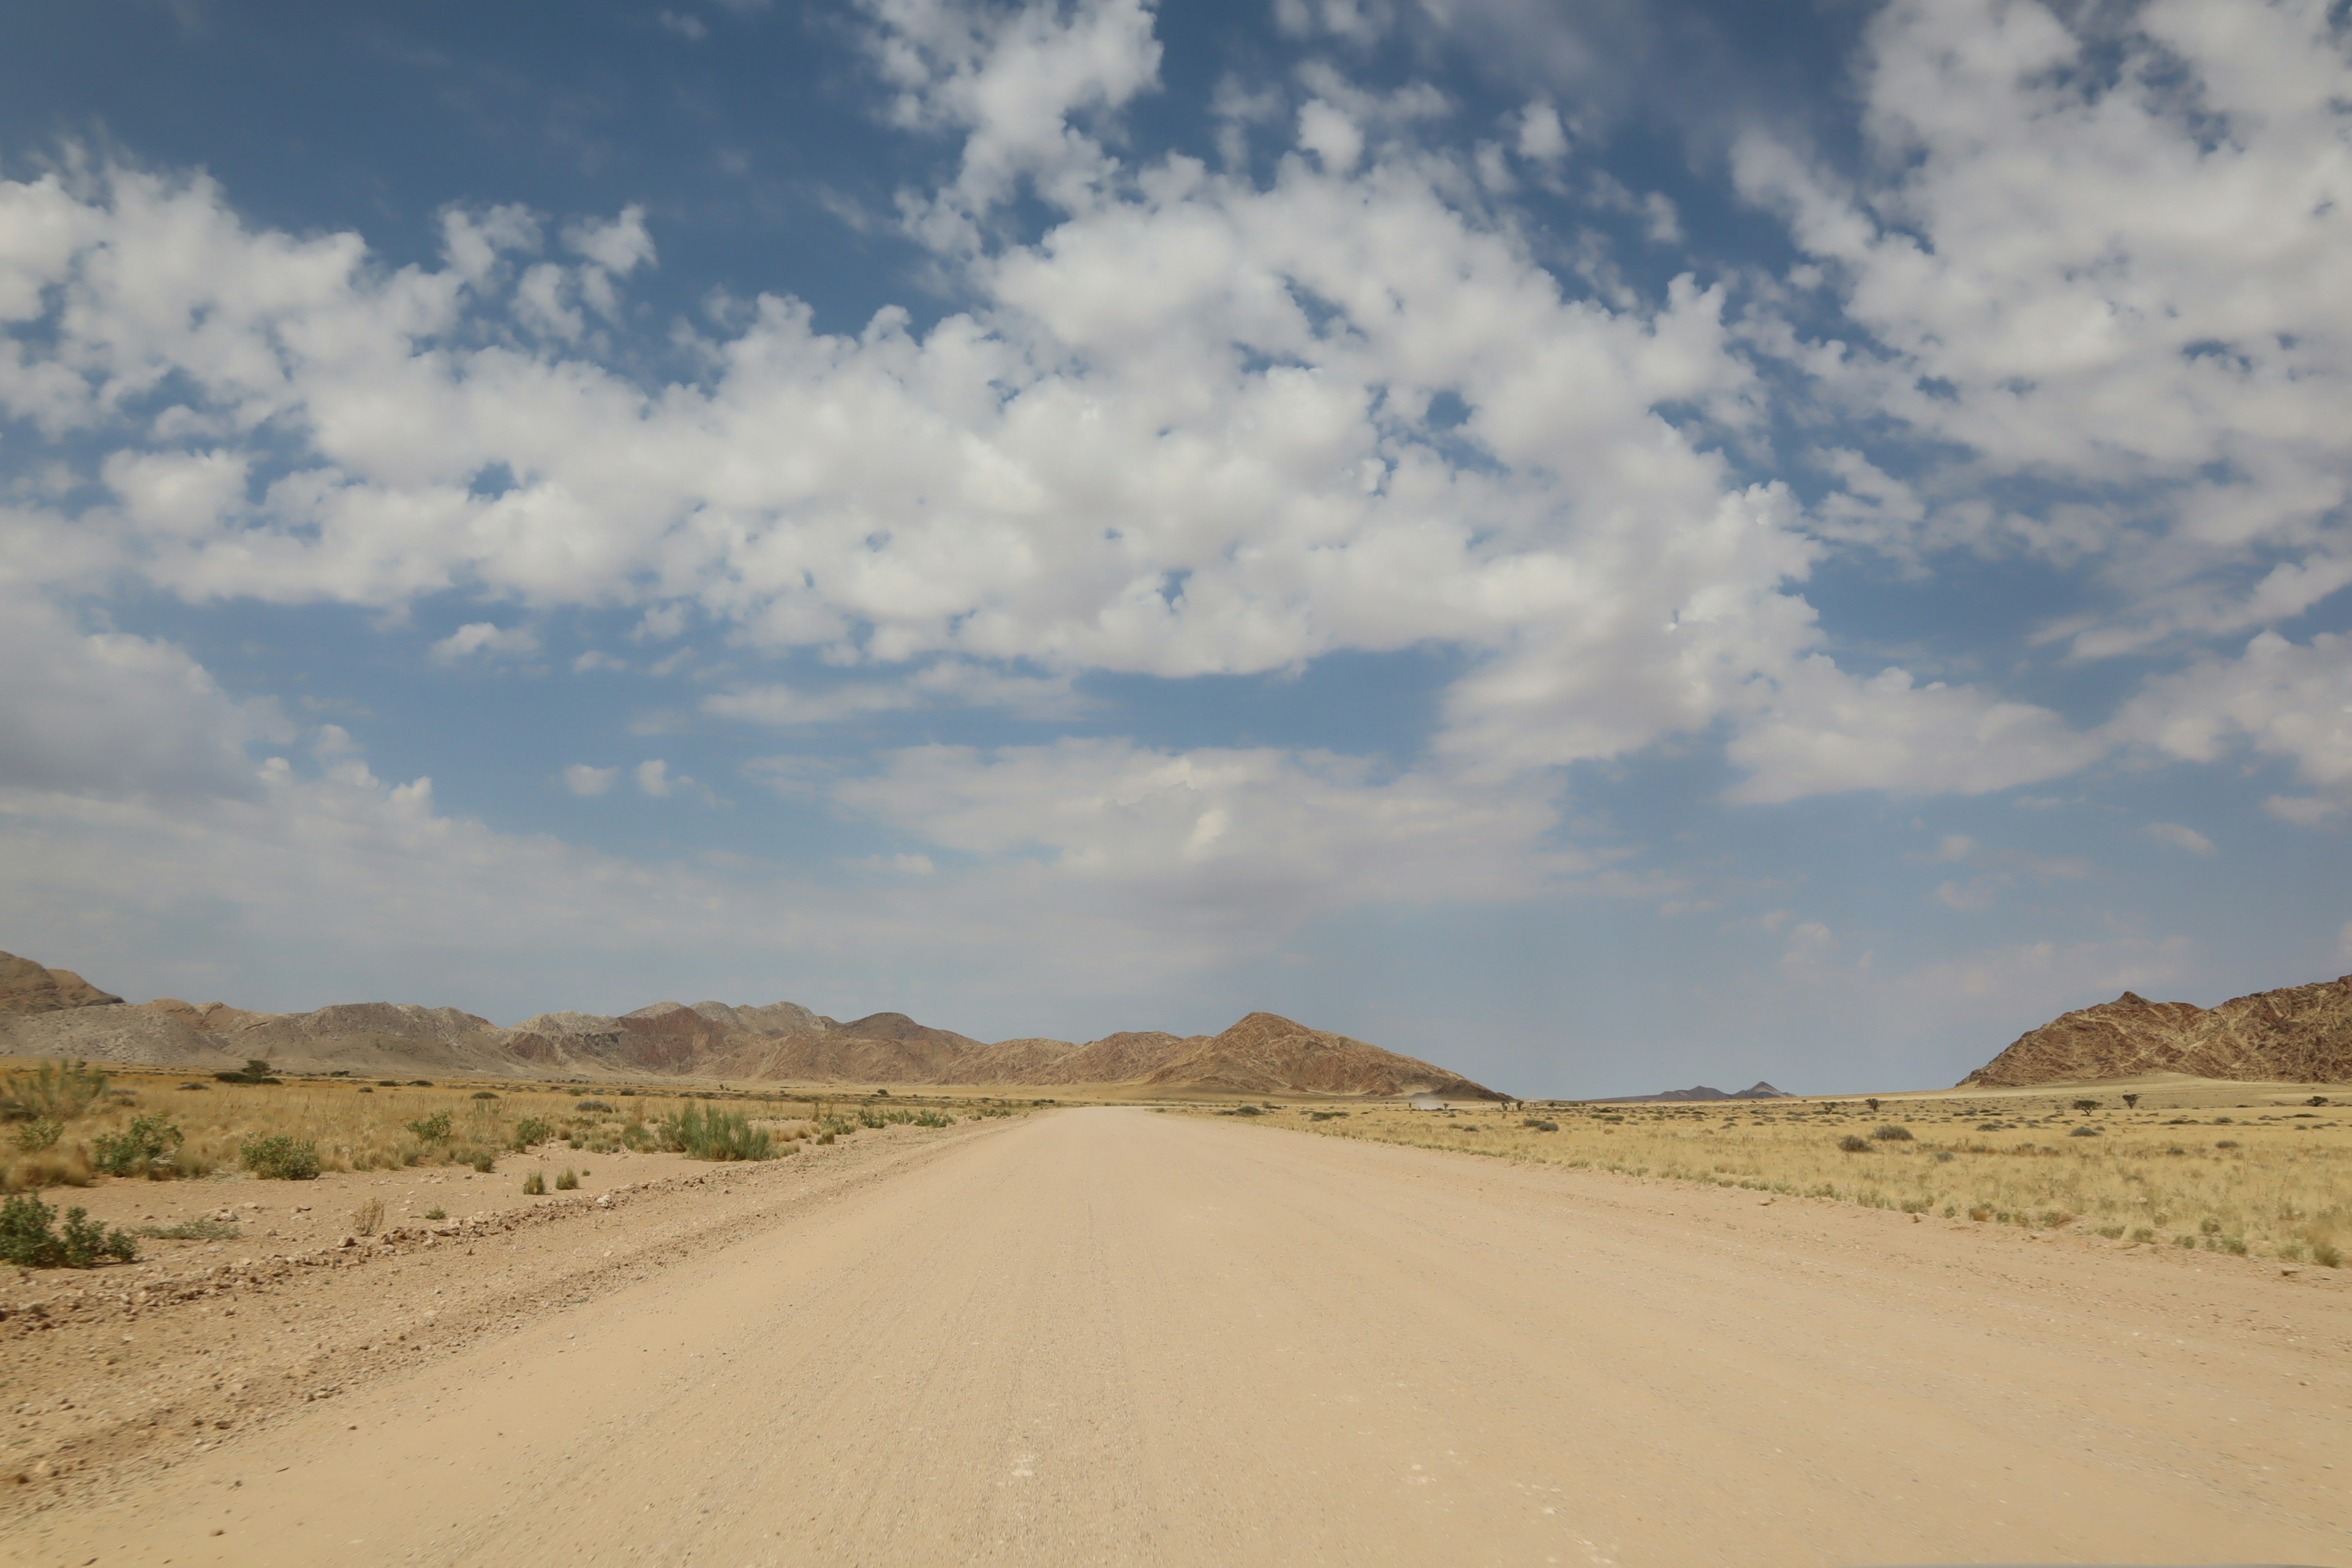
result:
[[[155,1234],[0,1276],[12,1563],[2352,1561],[2340,1086],[181,1081],[353,1168],[47,1192]]]

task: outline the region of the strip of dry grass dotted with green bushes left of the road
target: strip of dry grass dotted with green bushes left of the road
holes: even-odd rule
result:
[[[181,1074],[35,1063],[0,1077],[0,1192],[99,1178],[473,1166],[520,1152],[668,1150],[689,1159],[776,1159],[863,1128],[953,1126],[1000,1105],[896,1105],[887,1095],[786,1095],[668,1086],[287,1077],[268,1063]]]

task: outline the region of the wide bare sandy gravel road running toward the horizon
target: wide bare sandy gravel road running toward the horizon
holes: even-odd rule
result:
[[[1143,1110],[633,1199],[445,1246],[494,1321],[0,1559],[2352,1563],[2321,1269]]]

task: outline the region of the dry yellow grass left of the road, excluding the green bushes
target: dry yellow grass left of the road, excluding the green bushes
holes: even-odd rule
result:
[[[28,1072],[38,1063],[0,1067]],[[19,1150],[7,1143],[14,1128],[0,1133],[0,1190],[87,1185],[94,1178],[96,1140],[122,1133],[136,1117],[162,1117],[179,1131],[165,1173],[200,1178],[235,1171],[240,1147],[249,1138],[270,1135],[313,1143],[322,1171],[395,1171],[499,1159],[517,1140],[583,1152],[647,1147],[663,1117],[706,1100],[713,1103],[706,1110],[724,1107],[750,1117],[779,1145],[856,1131],[875,1124],[884,1107],[920,1110],[906,1095],[882,1103],[840,1093],[459,1079],[419,1086],[343,1077],[221,1084],[209,1074],[146,1067],[103,1072],[108,1093],[87,1114],[71,1119],[54,1147]],[[868,1110],[863,1119],[861,1110]],[[969,1103],[960,1110],[971,1114]],[[442,1126],[447,1135],[440,1135]]]

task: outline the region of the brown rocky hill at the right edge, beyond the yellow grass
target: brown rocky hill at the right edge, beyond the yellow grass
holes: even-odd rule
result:
[[[2251,1084],[2352,1081],[2352,976],[2232,997],[2213,1009],[2124,992],[2020,1034],[1962,1086],[2013,1088],[2140,1072]]]

